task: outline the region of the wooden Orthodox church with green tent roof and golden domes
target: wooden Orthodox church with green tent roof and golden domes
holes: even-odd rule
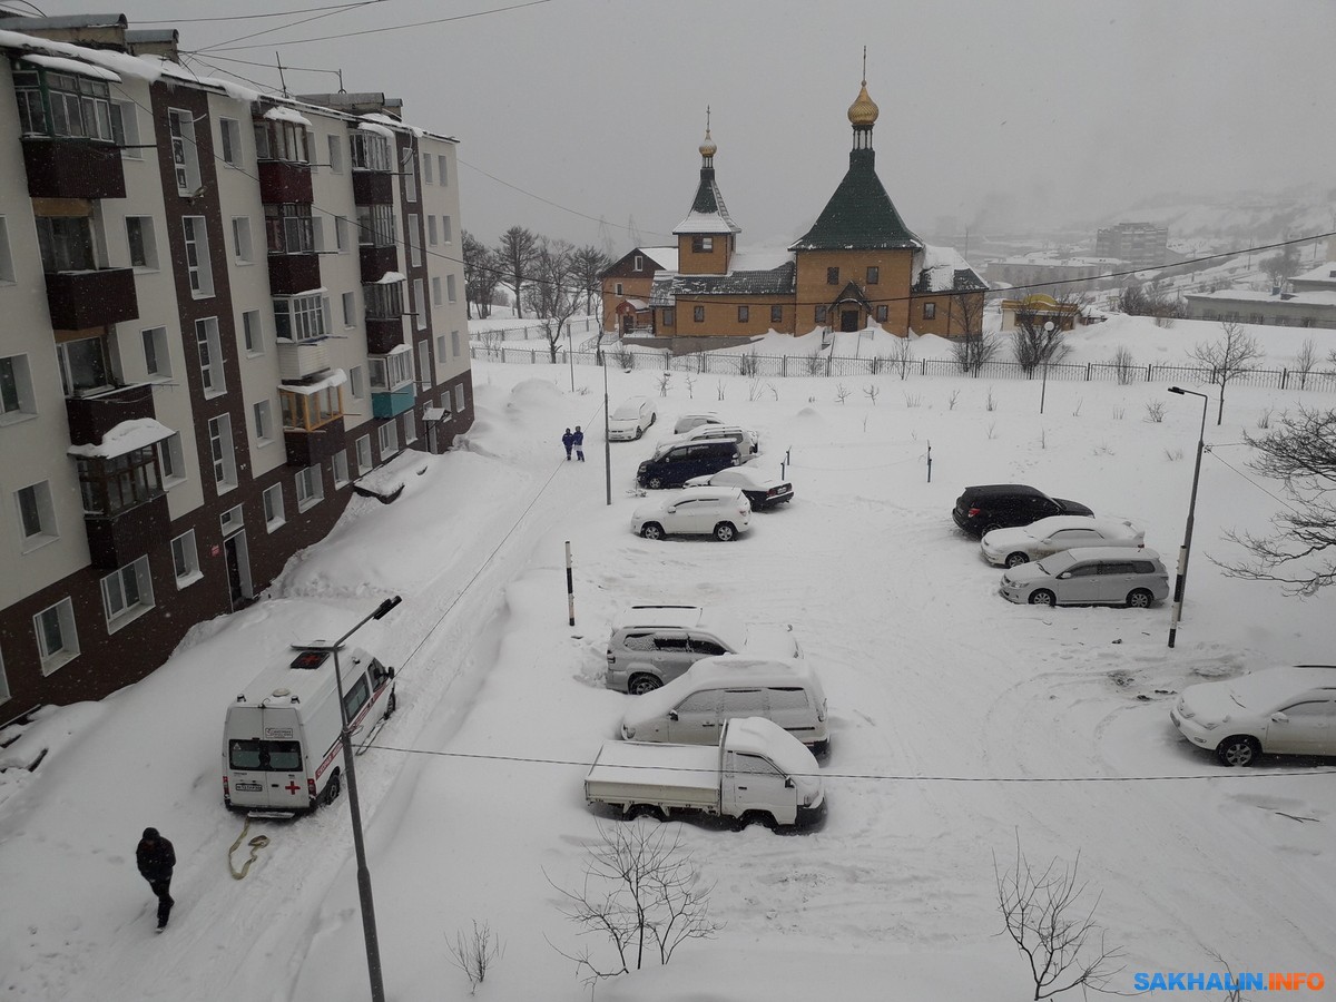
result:
[[[739,250],[741,227],[715,178],[719,147],[707,122],[700,183],[673,230],[677,244],[636,247],[603,274],[605,331],[671,339],[675,350],[739,343],[771,330],[876,325],[900,337],[979,333],[987,283],[954,250],[927,246],[900,219],[876,176],[878,114],[863,80],[848,108],[848,171],[787,253]]]

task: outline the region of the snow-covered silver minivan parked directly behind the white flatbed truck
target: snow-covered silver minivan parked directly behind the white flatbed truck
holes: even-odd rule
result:
[[[717,744],[724,721],[744,716],[774,720],[814,755],[830,751],[826,693],[811,665],[794,657],[704,657],[637,699],[621,719],[621,736],[628,741]]]

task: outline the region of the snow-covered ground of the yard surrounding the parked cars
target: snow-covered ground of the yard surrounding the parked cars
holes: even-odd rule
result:
[[[1277,367],[1307,337],[1265,329]],[[1073,338],[1078,361],[1128,345],[1182,358],[1217,325],[1117,319]],[[1293,342],[1293,343],[1291,343]],[[1325,354],[1323,342],[1320,353]],[[919,346],[916,346],[918,349]],[[927,345],[922,345],[927,350]],[[1173,562],[1200,401],[1164,385],[608,373],[612,402],[647,394],[660,424],[612,444],[605,505],[603,373],[474,363],[477,422],[444,457],[407,453],[390,505],[354,500],[263,601],[196,628],[150,679],[99,704],[44,712],[0,764],[0,998],[337,1002],[367,997],[346,796],[295,822],[253,822],[271,843],[243,880],[222,804],[227,703],[289,644],[358,633],[399,668],[399,712],[358,759],[387,997],[464,999],[448,942],[486,922],[505,946],[480,998],[588,998],[578,939],[553,884],[573,887],[599,819],[581,779],[629,696],[601,685],[613,613],[633,601],[727,605],[791,623],[830,696],[830,815],[783,836],[681,824],[711,914],[725,927],[604,999],[1025,999],[1002,933],[994,854],[1019,839],[1046,863],[1079,852],[1096,918],[1136,971],[1319,971],[1336,991],[1336,776],[1331,762],[1228,771],[1168,720],[1173,693],[1268,664],[1333,661],[1332,597],[1285,599],[1209,557],[1228,529],[1264,530],[1276,485],[1246,468],[1242,433],[1329,394],[1230,387],[1206,426],[1185,620],[1168,605],[1041,609],[997,595],[999,570],[953,525],[961,488],[1034,484],[1148,526]],[[874,398],[864,386],[878,386]],[[1208,390],[1209,391],[1209,390]],[[723,398],[720,398],[723,394]],[[991,399],[991,409],[989,401]],[[1148,405],[1164,403],[1164,421]],[[628,530],[635,465],[673,417],[708,407],[790,460],[796,498],[733,544],[649,542]],[[587,464],[561,430],[587,430]],[[927,456],[931,449],[931,480]],[[1269,492],[1269,493],[1268,493]],[[574,557],[566,623],[564,544]],[[1296,775],[1297,774],[1297,775]],[[134,866],[140,830],[176,846],[170,929]],[[239,850],[235,863],[246,858]],[[1220,993],[1180,993],[1220,998]]]

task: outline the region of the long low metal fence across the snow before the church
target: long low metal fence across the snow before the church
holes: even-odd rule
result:
[[[608,363],[631,371],[672,371],[699,375],[744,375],[760,379],[784,379],[798,375],[830,378],[863,375],[898,375],[900,379],[926,377],[970,377],[975,379],[1051,379],[1054,382],[1114,382],[1124,386],[1142,382],[1188,383],[1192,386],[1217,382],[1210,369],[1192,365],[1118,365],[1114,362],[1086,362],[1073,365],[1058,362],[1026,370],[1019,362],[983,362],[966,369],[953,358],[844,358],[839,355],[758,355],[713,354],[696,351],[688,355],[612,349],[605,351]],[[508,365],[552,365],[548,347],[516,347],[508,345],[470,345],[469,355],[477,359]],[[599,353],[592,349],[558,347],[556,365],[599,365]],[[1249,369],[1229,377],[1233,386],[1261,386],[1279,390],[1336,391],[1336,371],[1321,370],[1296,373],[1292,369]]]

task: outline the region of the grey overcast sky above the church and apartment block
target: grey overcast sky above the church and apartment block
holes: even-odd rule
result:
[[[864,45],[878,172],[919,231],[1133,218],[1170,192],[1336,191],[1331,0],[375,0],[240,20],[330,3],[119,9],[175,24],[202,73],[275,88],[277,51],[402,98],[407,120],[461,140],[462,224],[488,243],[521,224],[621,254],[632,220],[641,243],[671,240],[707,106],[743,244],[787,243],[847,166]],[[338,80],[293,69],[287,86]]]

